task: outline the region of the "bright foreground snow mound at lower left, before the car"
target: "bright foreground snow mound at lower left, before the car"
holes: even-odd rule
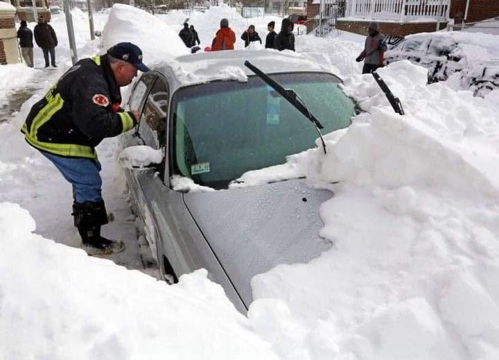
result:
[[[0,203],[1,359],[277,359],[207,271],[168,286],[34,230]]]

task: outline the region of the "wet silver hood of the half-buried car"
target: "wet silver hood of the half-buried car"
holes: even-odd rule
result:
[[[309,262],[331,247],[319,237],[319,206],[333,197],[296,179],[184,195],[184,201],[246,306],[250,280],[279,264]]]

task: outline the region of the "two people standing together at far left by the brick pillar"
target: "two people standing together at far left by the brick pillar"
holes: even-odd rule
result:
[[[34,28],[35,42],[42,49],[45,59],[45,67],[55,64],[55,46],[58,46],[57,35],[50,24],[48,24],[43,15],[38,17],[38,24]],[[33,67],[33,31],[28,28],[26,21],[21,21],[21,26],[17,30],[17,37],[19,38],[19,47],[21,48],[21,55],[28,67]],[[49,62],[50,54],[50,62]]]

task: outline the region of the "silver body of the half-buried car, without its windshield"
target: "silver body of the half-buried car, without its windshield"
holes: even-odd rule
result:
[[[161,76],[168,82],[168,101],[165,94],[164,103],[170,104],[181,87],[252,75],[243,66],[246,59],[268,74],[283,72],[283,62],[286,72],[326,72],[313,62],[274,51],[219,51],[183,56],[171,65],[157,67],[149,76]],[[140,97],[140,91],[136,87],[131,98]],[[169,112],[165,117],[167,123],[172,121]],[[170,126],[166,129],[166,139],[170,139]],[[152,147],[161,146],[148,140],[146,132],[141,137]],[[124,146],[142,143],[133,135],[125,136],[123,142]],[[305,179],[223,191],[174,191],[170,187],[170,150],[164,148],[161,166],[126,171],[134,210],[145,225],[162,273],[170,266],[177,276],[205,268],[244,313],[252,302],[254,275],[278,264],[309,262],[331,246],[319,237],[319,205],[331,198],[332,192],[313,189]]]

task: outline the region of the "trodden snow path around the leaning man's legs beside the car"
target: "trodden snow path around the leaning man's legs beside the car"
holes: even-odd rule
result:
[[[65,69],[67,67],[35,71],[33,78],[26,82],[28,87],[13,89],[7,96],[0,116],[0,128],[10,132],[10,136],[0,137],[0,202],[19,203],[28,209],[37,224],[35,232],[43,237],[79,247],[80,237],[71,216],[71,185],[51,162],[24,142],[19,132],[30,106],[37,98],[29,100],[22,109],[21,105],[33,94],[42,96]],[[40,76],[40,71],[44,71],[44,76]],[[107,212],[114,214],[114,221],[103,226],[103,236],[121,239],[125,243],[123,252],[106,258],[126,268],[159,277],[147,241],[140,241],[140,244],[138,241],[141,226],[130,210],[128,187],[116,162],[119,151],[117,138],[105,139],[97,148],[103,167],[100,173],[103,197]]]

